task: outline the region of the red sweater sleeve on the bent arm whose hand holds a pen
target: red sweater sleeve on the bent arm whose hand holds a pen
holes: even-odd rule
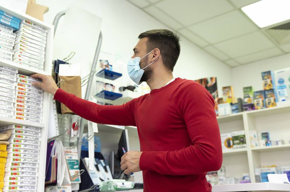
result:
[[[220,169],[221,136],[211,94],[198,83],[187,81],[176,91],[174,101],[184,120],[191,145],[176,151],[144,151],[140,157],[140,169],[168,175]]]

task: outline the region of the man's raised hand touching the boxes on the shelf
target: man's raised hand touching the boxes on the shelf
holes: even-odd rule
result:
[[[42,88],[43,91],[46,91],[54,95],[58,89],[56,83],[54,82],[53,78],[50,75],[43,75],[43,74],[37,73],[37,74],[31,75],[31,77],[42,79],[42,82],[32,82],[32,85]]]

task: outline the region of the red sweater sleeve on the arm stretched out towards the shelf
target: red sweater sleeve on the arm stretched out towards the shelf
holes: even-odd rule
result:
[[[99,105],[58,89],[54,99],[65,104],[75,114],[95,123],[136,126],[134,118],[134,101],[123,105]]]

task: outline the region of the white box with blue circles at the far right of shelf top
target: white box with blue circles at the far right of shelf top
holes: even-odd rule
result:
[[[290,101],[290,68],[275,71],[277,101]]]

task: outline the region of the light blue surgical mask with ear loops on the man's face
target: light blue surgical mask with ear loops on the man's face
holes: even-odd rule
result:
[[[153,50],[152,50],[153,51]],[[149,53],[151,53],[152,51],[150,51]],[[147,53],[145,56],[147,56],[149,53]],[[153,61],[152,63],[150,63],[149,65],[147,65],[146,67],[144,67],[143,69],[140,69],[140,60],[143,59],[145,56],[143,56],[142,58],[140,57],[135,57],[135,58],[130,58],[127,64],[127,70],[128,70],[128,74],[130,76],[130,78],[137,84],[140,85],[142,82],[140,82],[141,77],[144,73],[144,69],[148,66],[150,66],[152,63],[154,63],[155,61]]]

